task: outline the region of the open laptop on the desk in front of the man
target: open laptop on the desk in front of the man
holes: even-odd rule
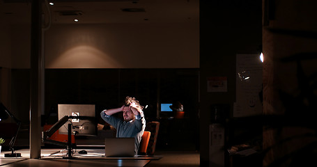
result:
[[[134,138],[105,138],[105,157],[134,157]]]

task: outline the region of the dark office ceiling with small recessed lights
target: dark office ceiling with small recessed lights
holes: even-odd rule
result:
[[[199,22],[199,0],[51,0],[43,3],[45,20],[52,24],[122,24]],[[0,19],[7,23],[31,22],[30,0],[2,0]]]

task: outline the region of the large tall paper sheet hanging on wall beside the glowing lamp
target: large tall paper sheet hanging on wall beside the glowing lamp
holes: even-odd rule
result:
[[[262,114],[263,63],[258,54],[237,54],[233,117]]]

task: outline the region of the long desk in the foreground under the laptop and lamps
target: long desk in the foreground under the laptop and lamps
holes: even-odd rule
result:
[[[22,157],[6,158],[3,155],[7,152],[1,152],[0,166],[1,167],[86,167],[86,166],[146,166],[150,160],[158,160],[161,157],[102,157],[105,150],[86,149],[88,154],[75,153],[75,159],[63,159],[65,152],[59,154],[52,154],[61,149],[41,149],[40,159],[30,159],[29,149],[16,150],[20,152]],[[78,152],[78,150],[77,150]]]

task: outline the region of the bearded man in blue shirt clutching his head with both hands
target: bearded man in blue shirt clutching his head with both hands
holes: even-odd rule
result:
[[[117,138],[135,138],[134,154],[138,153],[141,137],[146,128],[146,120],[142,111],[143,106],[134,97],[125,97],[125,104],[120,108],[107,109],[100,113],[103,120],[116,128]],[[123,120],[114,116],[114,113],[123,111]]]

